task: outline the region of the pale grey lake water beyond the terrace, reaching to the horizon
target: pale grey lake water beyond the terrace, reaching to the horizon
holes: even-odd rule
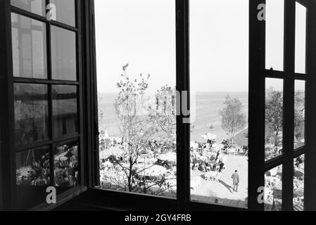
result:
[[[222,129],[221,116],[219,111],[225,107],[225,97],[229,94],[232,98],[238,98],[244,105],[244,112],[248,117],[248,93],[198,93],[195,98],[195,105],[191,110],[196,110],[196,118],[193,122],[194,129],[191,133],[191,141],[205,141],[201,136],[210,132],[210,125],[213,124],[213,134],[217,135],[217,141],[227,138],[227,131]],[[103,126],[110,137],[120,137],[116,126],[117,117],[113,102],[118,94],[99,94],[99,108],[103,113]],[[191,101],[192,102],[192,101]]]

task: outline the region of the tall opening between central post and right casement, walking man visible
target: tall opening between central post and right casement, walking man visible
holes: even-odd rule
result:
[[[190,1],[194,201],[248,206],[248,2]]]

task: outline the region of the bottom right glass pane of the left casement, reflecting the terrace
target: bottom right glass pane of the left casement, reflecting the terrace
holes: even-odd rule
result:
[[[55,186],[66,188],[79,184],[78,143],[60,143],[53,148]]]

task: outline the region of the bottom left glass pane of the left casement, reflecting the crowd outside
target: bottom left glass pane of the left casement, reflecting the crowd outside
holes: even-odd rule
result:
[[[48,146],[16,153],[15,158],[16,184],[18,186],[47,186],[50,184]]]

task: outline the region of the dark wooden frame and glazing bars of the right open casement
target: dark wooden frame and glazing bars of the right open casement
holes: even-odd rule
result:
[[[249,128],[249,149],[260,149],[260,153],[252,153],[255,160],[251,162],[249,160],[249,167],[255,168],[257,165],[260,170],[260,174],[249,177],[249,184],[251,179],[255,182],[251,184],[249,190],[251,193],[255,192],[255,188],[258,186],[264,186],[265,172],[283,165],[282,167],[282,210],[293,211],[293,160],[300,155],[305,154],[305,197],[304,205],[305,210],[315,210],[315,200],[312,200],[312,196],[315,196],[315,191],[312,191],[312,187],[315,188],[315,181],[313,181],[310,174],[315,174],[312,170],[315,170],[315,165],[312,165],[312,161],[315,162],[315,153],[312,148],[315,146],[312,134],[315,132],[315,119],[312,118],[312,113],[315,112],[315,105],[312,104],[316,100],[315,91],[312,90],[312,86],[315,86],[315,74],[316,70],[312,65],[312,59],[315,58],[315,46],[312,43],[312,39],[315,38],[315,18],[312,14],[315,13],[315,1],[303,1],[297,0],[299,4],[302,4],[307,8],[307,31],[306,31],[306,73],[299,74],[295,72],[295,21],[296,21],[296,1],[286,0],[284,1],[284,71],[274,71],[265,69],[265,23],[260,23],[258,20],[251,23],[251,56],[250,56],[250,68],[251,68],[251,102],[249,102],[249,112],[252,111],[250,128]],[[255,15],[255,8],[258,4],[265,4],[263,1],[253,1],[253,13]],[[252,33],[252,32],[251,32]],[[261,37],[261,38],[260,38]],[[257,76],[257,77],[256,77]],[[279,78],[284,82],[284,107],[283,107],[283,155],[278,156],[265,162],[265,143],[260,137],[264,136],[265,132],[265,79],[266,78]],[[294,95],[295,95],[295,81],[305,81],[305,146],[294,149]],[[254,107],[254,106],[257,107]],[[255,115],[254,115],[255,114]],[[257,122],[255,123],[255,120]],[[256,132],[256,133],[255,133]],[[314,133],[315,134],[315,133]],[[307,160],[308,159],[308,160]],[[259,171],[258,171],[259,172]],[[257,179],[257,180],[256,180]],[[255,185],[254,185],[255,184]],[[251,198],[251,197],[249,197]],[[263,204],[255,202],[255,196],[250,199],[255,210],[264,210]]]

